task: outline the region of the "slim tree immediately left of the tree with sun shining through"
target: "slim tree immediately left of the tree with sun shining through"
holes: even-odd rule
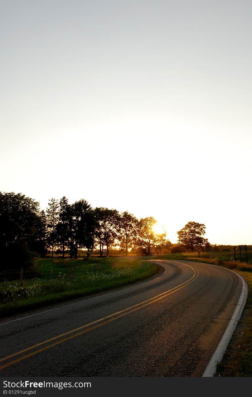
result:
[[[126,256],[128,249],[133,247],[137,235],[137,218],[125,211],[118,216],[118,240],[121,249],[125,250]]]

